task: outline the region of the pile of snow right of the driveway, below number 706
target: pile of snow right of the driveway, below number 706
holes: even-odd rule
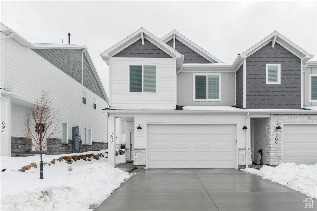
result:
[[[279,183],[317,199],[317,164],[281,163],[275,168],[265,165],[259,170],[246,168],[242,171],[256,174],[263,179],[271,180],[271,182]]]

